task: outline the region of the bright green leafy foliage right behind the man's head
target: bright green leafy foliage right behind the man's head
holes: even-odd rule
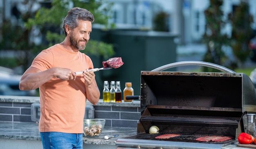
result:
[[[110,18],[108,12],[110,12],[111,6],[111,3],[106,3],[103,0],[53,0],[51,7],[40,8],[35,18],[28,20],[26,27],[29,29],[35,26],[40,28],[41,32],[46,34],[46,40],[49,42],[48,46],[52,46],[64,40],[65,35],[61,30],[61,25],[67,15],[67,11],[72,7],[88,9],[94,15],[94,23],[103,24],[107,29],[115,27],[113,24],[108,23],[108,19]],[[48,30],[47,27],[55,28],[55,30]],[[90,40],[87,44],[87,48],[82,52],[90,53],[95,56],[103,56],[104,58],[108,58],[115,53],[112,44],[96,40]]]

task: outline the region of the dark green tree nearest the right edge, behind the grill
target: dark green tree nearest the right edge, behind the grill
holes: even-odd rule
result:
[[[232,36],[230,46],[238,66],[242,66],[249,56],[249,41],[252,34],[252,15],[249,14],[249,5],[241,1],[234,13],[229,13],[229,20],[232,24]]]

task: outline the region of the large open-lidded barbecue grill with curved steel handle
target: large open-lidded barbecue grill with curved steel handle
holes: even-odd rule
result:
[[[170,72],[172,67],[198,65],[224,72]],[[117,140],[117,149],[220,149],[237,142],[246,130],[246,113],[256,112],[256,93],[250,78],[217,64],[184,61],[141,71],[141,118],[137,135]],[[151,126],[159,133],[150,134]],[[180,134],[156,139],[163,134]],[[225,141],[197,141],[204,136],[228,136]]]

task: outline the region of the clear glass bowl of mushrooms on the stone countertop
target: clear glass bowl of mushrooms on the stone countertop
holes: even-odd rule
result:
[[[101,135],[106,120],[104,119],[85,119],[83,120],[83,133],[85,137],[96,138]]]

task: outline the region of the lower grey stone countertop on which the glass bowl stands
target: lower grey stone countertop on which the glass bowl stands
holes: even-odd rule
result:
[[[136,135],[136,128],[104,127],[98,138],[83,137],[85,144],[116,145],[119,138]],[[104,139],[106,135],[119,134],[117,138]],[[0,139],[41,140],[38,123],[33,122],[0,122]]]

